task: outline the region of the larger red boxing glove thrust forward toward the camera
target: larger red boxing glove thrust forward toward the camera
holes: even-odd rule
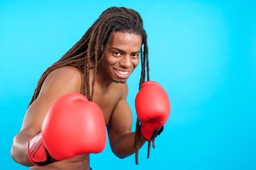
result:
[[[106,146],[106,124],[101,109],[80,93],[63,95],[54,102],[42,130],[29,140],[27,155],[36,166],[99,153]]]

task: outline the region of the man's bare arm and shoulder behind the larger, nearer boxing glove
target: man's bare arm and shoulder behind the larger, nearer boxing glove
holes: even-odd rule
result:
[[[80,93],[81,82],[79,70],[72,67],[58,68],[47,76],[38,98],[27,110],[20,132],[13,138],[11,157],[14,161],[33,166],[26,151],[29,139],[41,130],[45,115],[56,99],[67,93]]]

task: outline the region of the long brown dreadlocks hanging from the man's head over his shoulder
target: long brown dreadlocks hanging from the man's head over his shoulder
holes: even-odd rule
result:
[[[147,35],[143,28],[143,20],[140,14],[133,10],[125,7],[110,7],[103,11],[99,18],[92,24],[92,26],[85,32],[82,38],[76,42],[76,44],[65,53],[60,60],[48,67],[46,71],[40,77],[34,94],[29,102],[29,106],[36,100],[45,81],[45,78],[54,69],[62,66],[74,66],[79,68],[83,73],[83,95],[85,95],[89,101],[92,101],[94,93],[95,76],[97,72],[97,66],[105,55],[106,48],[112,38],[114,32],[123,33],[135,33],[141,35],[141,78],[139,82],[139,90],[141,89],[142,83],[145,82],[146,70],[147,80],[149,80],[149,66],[148,66],[148,45]],[[103,52],[99,56],[99,49],[103,46]],[[144,46],[142,53],[142,46]],[[90,66],[90,59],[94,58],[94,66]],[[93,79],[90,90],[89,75],[90,70],[94,68]],[[28,106],[28,107],[29,107]],[[136,130],[135,130],[135,159],[138,164],[138,152],[139,152],[139,137],[140,137],[140,122],[137,119]],[[154,143],[153,143],[154,146]],[[148,143],[148,156],[150,150],[150,142]]]

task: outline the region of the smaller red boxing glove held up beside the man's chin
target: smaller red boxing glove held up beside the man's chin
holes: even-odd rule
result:
[[[164,130],[171,112],[166,91],[157,82],[144,82],[135,98],[135,109],[141,121],[141,136],[152,141]]]

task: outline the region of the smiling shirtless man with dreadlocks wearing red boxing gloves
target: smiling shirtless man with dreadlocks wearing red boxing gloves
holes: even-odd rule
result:
[[[148,68],[146,39],[136,11],[125,7],[103,11],[81,40],[43,73],[20,132],[13,139],[12,158],[31,170],[89,170],[89,154],[105,147],[105,126],[111,149],[119,158],[134,154],[146,141],[154,140],[168,119],[170,104],[159,84],[142,84]],[[139,88],[145,92],[141,90],[135,103],[136,110],[140,110],[135,135],[131,130],[132,112],[126,102],[126,80],[140,57]],[[157,102],[148,104],[150,110],[144,113],[143,105],[150,103],[150,98],[157,98]],[[162,105],[160,112],[152,109],[155,103]],[[88,117],[84,120],[85,116]]]

